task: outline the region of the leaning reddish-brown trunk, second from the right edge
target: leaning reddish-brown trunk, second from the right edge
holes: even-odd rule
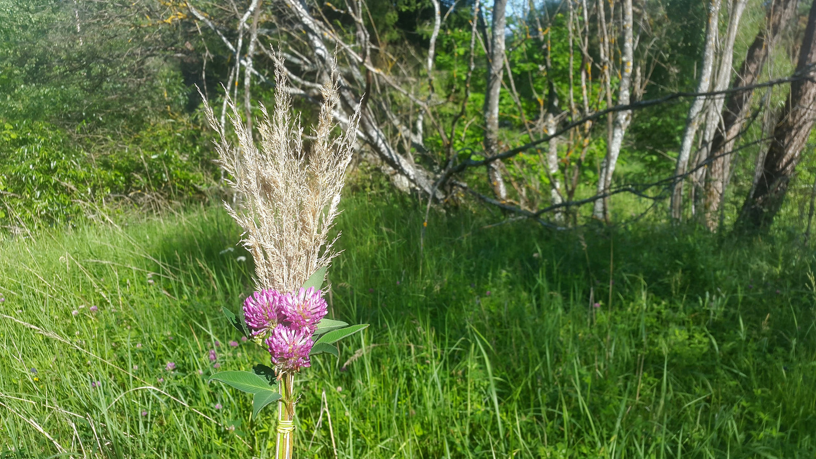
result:
[[[734,77],[732,87],[750,86],[756,83],[765,61],[768,59],[770,48],[774,47],[779,34],[790,22],[796,11],[798,0],[774,0],[768,7],[765,16],[765,25],[756,33],[756,38],[748,48]],[[734,142],[743,128],[751,109],[753,91],[740,91],[731,94],[722,111],[722,122],[717,126],[716,133],[708,149],[708,174],[705,182],[705,224],[709,230],[716,230],[719,225],[719,210],[725,185],[730,176],[731,151]]]

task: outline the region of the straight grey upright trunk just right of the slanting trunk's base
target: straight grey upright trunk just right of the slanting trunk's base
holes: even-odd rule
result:
[[[485,94],[485,154],[499,154],[499,91],[502,88],[504,71],[504,12],[508,0],[493,2],[493,24],[488,48],[487,91]],[[493,194],[499,201],[508,198],[508,189],[502,178],[500,160],[487,166],[487,177]]]

